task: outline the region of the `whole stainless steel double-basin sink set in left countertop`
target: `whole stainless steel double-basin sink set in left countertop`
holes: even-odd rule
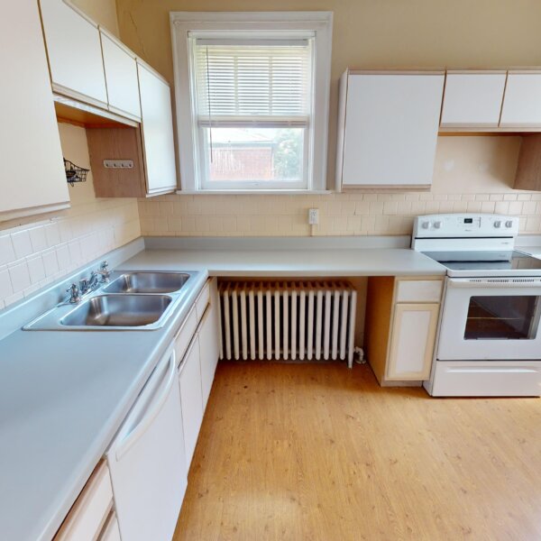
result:
[[[165,325],[197,272],[114,272],[80,303],[50,309],[25,330],[154,330]]]

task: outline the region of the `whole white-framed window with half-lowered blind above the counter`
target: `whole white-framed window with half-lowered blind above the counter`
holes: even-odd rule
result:
[[[331,21],[171,14],[183,190],[326,188]]]

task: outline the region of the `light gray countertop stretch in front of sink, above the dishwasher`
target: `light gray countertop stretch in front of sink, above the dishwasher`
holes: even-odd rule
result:
[[[0,341],[3,539],[54,536],[206,278],[154,331],[18,330]]]

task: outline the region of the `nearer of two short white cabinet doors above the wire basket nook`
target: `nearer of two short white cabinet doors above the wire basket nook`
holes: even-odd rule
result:
[[[53,89],[106,107],[104,63],[96,23],[62,0],[40,0],[40,5]]]

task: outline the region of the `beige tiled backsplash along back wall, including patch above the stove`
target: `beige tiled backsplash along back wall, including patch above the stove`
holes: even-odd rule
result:
[[[434,186],[419,192],[326,196],[164,196],[139,202],[147,235],[303,236],[410,234],[413,217],[451,212],[521,216],[522,233],[541,232],[541,194],[509,188],[517,137],[441,137]],[[307,225],[317,207],[320,225]]]

